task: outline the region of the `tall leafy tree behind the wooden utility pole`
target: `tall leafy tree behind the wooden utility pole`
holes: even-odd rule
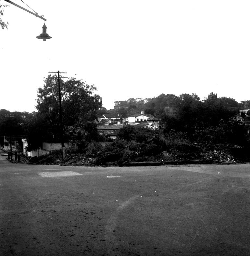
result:
[[[76,134],[85,122],[97,118],[99,103],[95,96],[94,85],[85,84],[82,80],[71,77],[64,82],[60,77],[63,130]],[[44,121],[49,124],[48,132],[51,141],[60,141],[60,109],[57,75],[49,75],[44,80],[43,88],[38,88],[36,109],[43,114]]]

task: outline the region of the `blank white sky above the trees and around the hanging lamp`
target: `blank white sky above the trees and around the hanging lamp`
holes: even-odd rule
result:
[[[48,71],[97,87],[103,107],[160,94],[250,100],[250,1],[12,0],[0,29],[0,109],[34,111]],[[7,2],[0,0],[0,4]]]

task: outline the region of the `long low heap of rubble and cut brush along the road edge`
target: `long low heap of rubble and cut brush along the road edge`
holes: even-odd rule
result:
[[[127,163],[160,163],[160,162],[182,162],[194,163],[195,161],[205,163],[236,163],[228,150],[229,147],[223,147],[222,150],[211,150],[211,148],[202,148],[187,143],[171,142],[168,149],[159,154],[145,154],[144,151],[139,153],[127,148],[110,147],[98,151],[96,154],[78,153],[66,154],[64,160],[61,159],[60,152],[54,152],[43,157],[34,157],[27,160],[28,164],[56,164],[72,166],[122,166]],[[218,146],[218,145],[217,145]],[[216,147],[219,148],[219,147]],[[132,149],[132,148],[131,148]]]

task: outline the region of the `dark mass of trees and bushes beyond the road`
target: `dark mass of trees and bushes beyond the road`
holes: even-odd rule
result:
[[[4,136],[11,133],[20,146],[26,138],[28,151],[42,147],[42,142],[61,142],[57,76],[49,75],[38,89],[36,112],[10,113],[0,110],[1,146]],[[196,94],[180,96],[161,94],[154,98],[130,98],[118,109],[106,110],[94,94],[94,85],[70,78],[61,79],[64,142],[77,147],[66,150],[66,160],[60,152],[27,160],[28,163],[72,165],[126,165],[130,162],[244,161],[250,158],[249,125],[242,122],[250,113],[239,113],[250,107],[250,101],[233,98],[200,100]],[[124,124],[116,140],[98,134],[99,115],[109,113],[128,117],[141,112],[160,120],[158,129],[145,136],[129,124]],[[119,121],[119,120],[117,120]],[[116,120],[111,124],[116,124]],[[77,149],[76,149],[77,148]],[[19,149],[21,150],[21,149]]]

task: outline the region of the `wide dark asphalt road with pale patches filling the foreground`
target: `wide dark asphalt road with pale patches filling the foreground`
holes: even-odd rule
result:
[[[0,157],[0,255],[250,255],[249,164],[77,167]]]

